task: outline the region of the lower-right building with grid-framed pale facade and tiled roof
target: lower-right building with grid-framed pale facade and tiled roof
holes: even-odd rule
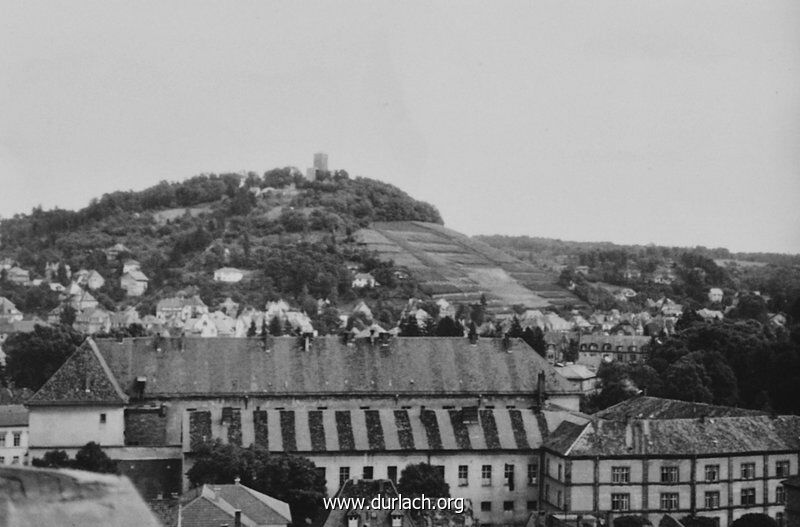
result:
[[[562,513],[778,518],[798,471],[800,416],[638,397],[545,442],[539,500]]]

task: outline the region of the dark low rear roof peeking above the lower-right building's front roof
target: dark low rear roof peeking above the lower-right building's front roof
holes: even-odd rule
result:
[[[603,419],[678,419],[694,417],[737,417],[766,415],[760,410],[747,410],[732,406],[662,399],[660,397],[632,397],[595,414]]]

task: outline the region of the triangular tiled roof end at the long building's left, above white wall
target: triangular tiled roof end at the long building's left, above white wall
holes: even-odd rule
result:
[[[128,396],[92,339],[69,356],[27,404],[35,405],[123,405]]]

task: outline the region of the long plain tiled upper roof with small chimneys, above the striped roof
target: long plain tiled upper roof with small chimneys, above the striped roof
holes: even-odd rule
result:
[[[94,345],[94,343],[92,342]],[[151,396],[189,394],[498,394],[530,395],[539,372],[548,393],[573,393],[569,381],[524,341],[396,337],[345,345],[335,336],[259,339],[101,339],[96,347],[121,386],[147,377]]]

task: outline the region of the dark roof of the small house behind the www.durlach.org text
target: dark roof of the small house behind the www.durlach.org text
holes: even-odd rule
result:
[[[359,481],[349,479],[336,493],[337,498],[345,500],[364,498],[367,504],[376,496],[389,499],[397,497],[399,494],[394,484],[388,479]],[[409,512],[404,510],[331,508],[325,510],[322,517],[315,522],[315,527],[345,527],[347,517],[352,514],[359,516],[359,525],[386,527],[391,525],[390,517],[395,514],[403,516],[402,527],[415,527],[416,525]]]

